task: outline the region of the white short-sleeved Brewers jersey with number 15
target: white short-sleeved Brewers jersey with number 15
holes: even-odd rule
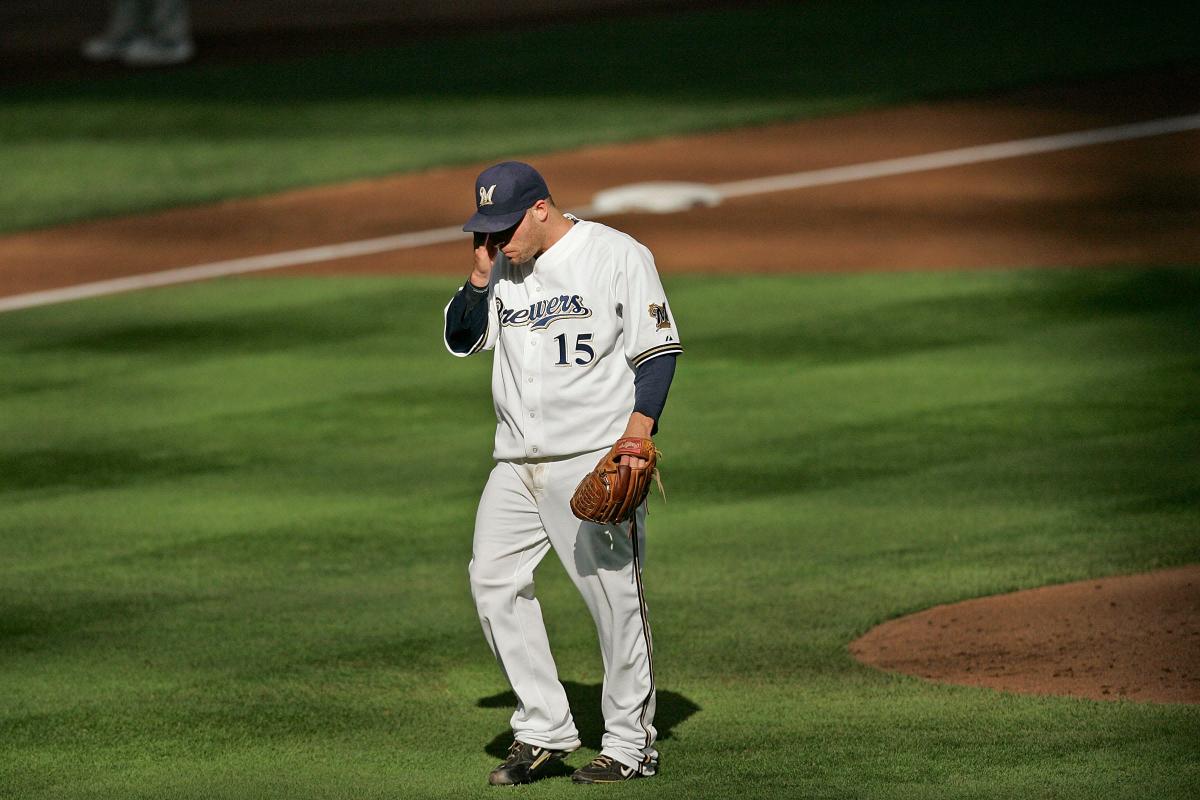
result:
[[[576,222],[526,264],[497,253],[487,302],[470,350],[446,349],[494,350],[498,461],[612,445],[634,410],[635,369],[683,353],[650,251],[600,223]]]

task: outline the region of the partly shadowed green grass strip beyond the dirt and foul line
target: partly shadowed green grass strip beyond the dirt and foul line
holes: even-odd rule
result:
[[[0,231],[1196,60],[1198,25],[1183,2],[822,0],[8,88]]]

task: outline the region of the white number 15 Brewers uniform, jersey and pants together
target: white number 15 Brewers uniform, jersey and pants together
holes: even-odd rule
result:
[[[487,302],[487,329],[470,351],[446,348],[496,351],[497,464],[479,503],[469,575],[484,634],[517,697],[515,738],[552,750],[580,746],[534,596],[534,570],[553,547],[600,637],[602,753],[652,775],[646,506],[635,540],[629,523],[583,522],[569,501],[624,433],[636,367],[683,351],[666,293],[646,247],[577,221],[533,261],[512,264],[498,253]]]

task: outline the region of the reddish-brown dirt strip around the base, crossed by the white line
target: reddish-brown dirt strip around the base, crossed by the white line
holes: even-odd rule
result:
[[[607,145],[536,162],[570,209],[638,181],[722,182],[1195,113],[1200,68]],[[0,237],[0,296],[461,224],[486,164]],[[605,217],[664,272],[1200,263],[1200,133]],[[464,245],[294,273],[464,275]]]

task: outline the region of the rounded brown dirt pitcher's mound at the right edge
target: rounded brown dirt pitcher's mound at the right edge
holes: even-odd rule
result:
[[[947,684],[1200,703],[1200,565],[936,606],[868,631],[850,650]]]

